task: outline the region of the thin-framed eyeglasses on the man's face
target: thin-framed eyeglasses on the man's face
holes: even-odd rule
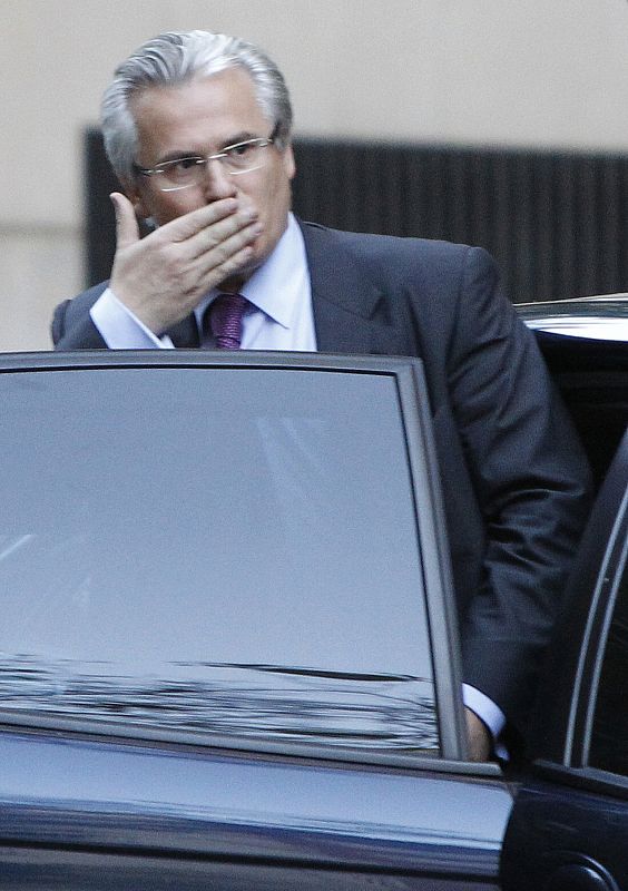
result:
[[[136,173],[141,176],[156,176],[157,187],[161,192],[176,192],[200,185],[210,160],[219,161],[225,173],[232,176],[248,174],[252,170],[258,170],[266,163],[265,149],[274,144],[276,130],[275,127],[267,139],[262,137],[246,139],[244,143],[225,146],[215,155],[190,155],[185,158],[175,158],[175,160],[165,160],[156,164],[155,167],[139,167],[137,164],[134,167]]]

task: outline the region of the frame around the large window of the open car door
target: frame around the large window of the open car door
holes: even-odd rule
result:
[[[351,761],[360,763],[387,763],[416,765],[426,763],[439,770],[459,770],[467,762],[467,736],[462,705],[462,682],[460,646],[455,600],[452,588],[449,548],[447,544],[444,509],[440,491],[440,479],[432,434],[431,411],[428,390],[418,359],[346,356],[335,354],[286,354],[238,351],[236,355],[202,351],[80,351],[72,353],[23,353],[0,356],[0,373],[53,372],[57,370],[99,370],[125,368],[276,368],[301,370],[328,370],[393,374],[398,384],[398,399],[404,424],[409,468],[413,483],[413,501],[416,511],[416,492],[424,491],[432,505],[431,511],[422,511],[416,517],[421,559],[425,581],[425,607],[428,633],[432,644],[432,664],[435,694],[435,712],[439,726],[440,752],[434,754],[403,752],[370,752],[365,750],[342,748],[334,751],[321,744],[294,743],[277,744],[264,741],[246,741],[237,737],[216,737],[213,741],[194,740],[190,732],[150,732],[143,728],[137,735],[114,725],[98,728],[81,726],[76,719],[50,719],[35,717],[24,724],[23,718],[10,715],[0,716],[2,728],[23,732],[78,733],[81,736],[124,738],[134,742],[146,741],[157,744],[184,744],[202,748],[235,750],[257,753],[278,753],[283,755],[307,755],[330,761]],[[423,500],[423,498],[421,498]],[[480,771],[484,772],[484,771]],[[497,764],[485,765],[489,774],[499,774]]]

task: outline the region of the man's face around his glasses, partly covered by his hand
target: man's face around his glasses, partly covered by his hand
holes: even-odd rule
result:
[[[155,167],[165,160],[192,155],[214,155],[225,146],[245,139],[268,137],[268,123],[255,99],[253,82],[241,68],[232,68],[177,87],[155,87],[131,104],[139,137],[136,161]],[[136,213],[169,223],[219,198],[236,197],[242,207],[257,210],[262,233],[254,243],[254,256],[245,280],[271,254],[287,223],[294,157],[288,146],[264,149],[264,166],[233,176],[217,160],[205,168],[202,184],[176,192],[161,192],[158,176],[139,176],[128,189]]]

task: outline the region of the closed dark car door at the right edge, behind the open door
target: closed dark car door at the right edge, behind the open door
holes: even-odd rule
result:
[[[624,390],[625,400],[626,390]],[[503,849],[506,891],[628,888],[628,432],[551,648],[534,762]]]

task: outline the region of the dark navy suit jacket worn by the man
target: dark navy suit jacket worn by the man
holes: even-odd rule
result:
[[[536,341],[480,248],[302,224],[322,352],[420,356],[430,391],[464,679],[522,728],[588,509],[588,468]],[[104,349],[61,304],[57,349]],[[197,346],[194,319],[170,332]]]

